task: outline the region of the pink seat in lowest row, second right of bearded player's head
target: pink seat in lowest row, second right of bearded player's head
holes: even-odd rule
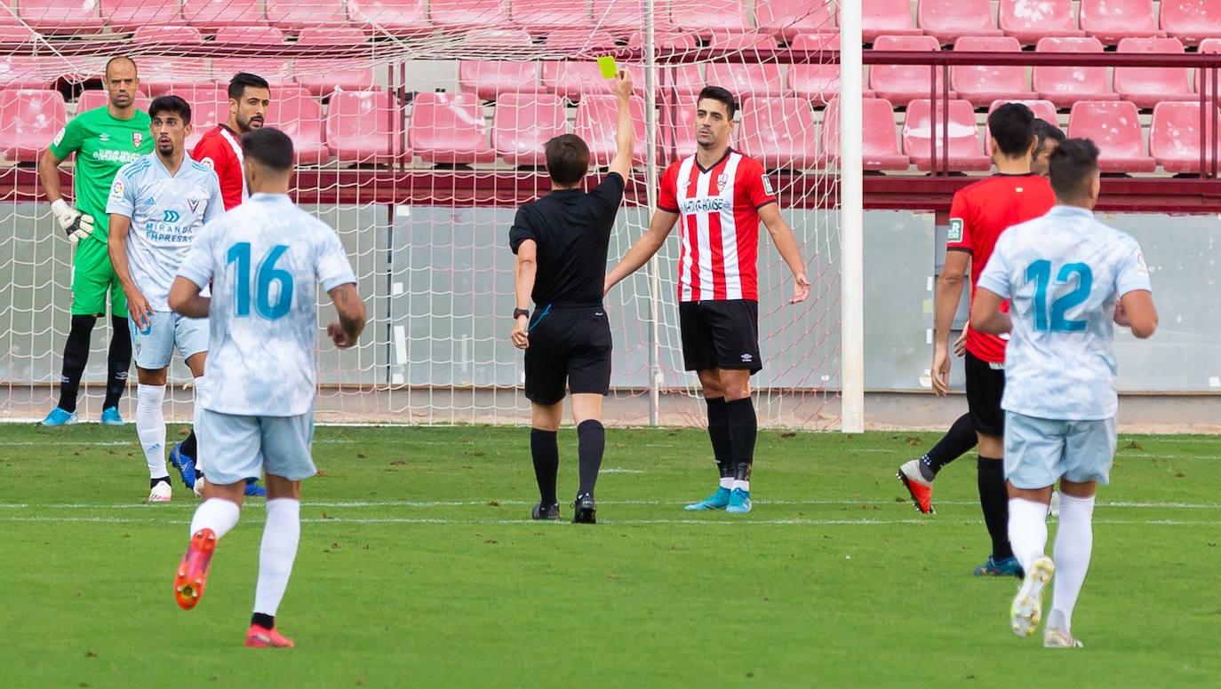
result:
[[[386,91],[343,91],[331,96],[326,146],[341,163],[391,163],[403,152],[399,109]],[[404,162],[411,160],[405,154]]]

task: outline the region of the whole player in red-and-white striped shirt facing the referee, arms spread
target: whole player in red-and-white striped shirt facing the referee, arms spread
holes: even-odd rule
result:
[[[708,437],[720,472],[712,496],[687,510],[750,512],[757,424],[751,374],[763,368],[758,346],[759,221],[792,271],[792,299],[810,296],[801,250],[780,217],[775,193],[758,161],[729,148],[737,105],[719,87],[696,101],[695,155],[662,176],[653,220],[606,278],[606,291],[645,265],[681,221],[679,326],[683,360],[695,371],[708,405]]]

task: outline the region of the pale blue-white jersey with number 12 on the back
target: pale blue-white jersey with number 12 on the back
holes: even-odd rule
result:
[[[1038,418],[1111,418],[1115,300],[1153,291],[1140,245],[1076,206],[1010,227],[978,285],[1010,300],[1006,411]]]

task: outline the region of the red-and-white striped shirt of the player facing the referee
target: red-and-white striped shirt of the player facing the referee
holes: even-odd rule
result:
[[[679,213],[679,301],[758,300],[758,210],[773,202],[763,166],[733,149],[708,170],[694,155],[665,168],[657,207]]]

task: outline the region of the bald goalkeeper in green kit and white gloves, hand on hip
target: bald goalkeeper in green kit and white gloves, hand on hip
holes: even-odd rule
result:
[[[120,167],[153,152],[153,138],[149,135],[148,113],[136,110],[139,88],[136,62],[128,57],[112,57],[106,63],[105,82],[110,102],[72,118],[38,161],[38,177],[51,202],[55,222],[76,246],[72,259],[72,326],[63,346],[60,402],[43,419],[43,426],[61,426],[77,419],[77,390],[89,361],[89,335],[98,318],[106,315],[107,291],[111,339],[101,422],[123,423],[118,415],[118,398],[127,387],[132,340],[127,329],[127,299],[110,267],[106,251],[110,229],[106,198]],[[77,156],[74,202],[70,205],[60,193],[59,166],[73,152]]]

